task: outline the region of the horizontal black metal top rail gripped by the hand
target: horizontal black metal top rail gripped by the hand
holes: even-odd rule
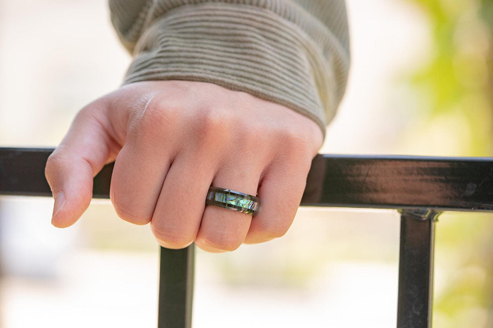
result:
[[[53,149],[0,148],[0,195],[51,196]],[[112,164],[94,179],[108,198]],[[493,211],[493,158],[317,155],[302,206]]]

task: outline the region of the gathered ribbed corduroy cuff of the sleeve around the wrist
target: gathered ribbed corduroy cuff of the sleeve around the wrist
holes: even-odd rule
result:
[[[290,108],[315,121],[324,135],[326,113],[335,112],[336,86],[333,74],[320,69],[327,66],[316,49],[300,26],[270,9],[211,2],[180,6],[143,33],[125,83],[212,82]]]

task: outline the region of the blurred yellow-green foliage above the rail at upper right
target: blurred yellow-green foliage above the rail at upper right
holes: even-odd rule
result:
[[[430,104],[423,120],[459,114],[465,131],[473,131],[464,136],[471,140],[463,155],[491,155],[493,1],[410,1],[428,17],[433,40],[432,60],[410,78]]]

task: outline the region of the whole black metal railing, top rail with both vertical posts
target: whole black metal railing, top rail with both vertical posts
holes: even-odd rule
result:
[[[52,151],[0,148],[0,195],[51,197],[44,166]],[[94,178],[93,197],[109,197],[112,169]],[[398,209],[397,327],[431,327],[436,218],[493,212],[493,158],[317,155],[301,205]],[[159,328],[191,327],[193,270],[193,245],[161,248]]]

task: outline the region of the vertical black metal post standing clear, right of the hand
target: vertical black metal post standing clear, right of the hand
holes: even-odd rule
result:
[[[440,212],[401,211],[398,328],[431,328],[435,222]]]

